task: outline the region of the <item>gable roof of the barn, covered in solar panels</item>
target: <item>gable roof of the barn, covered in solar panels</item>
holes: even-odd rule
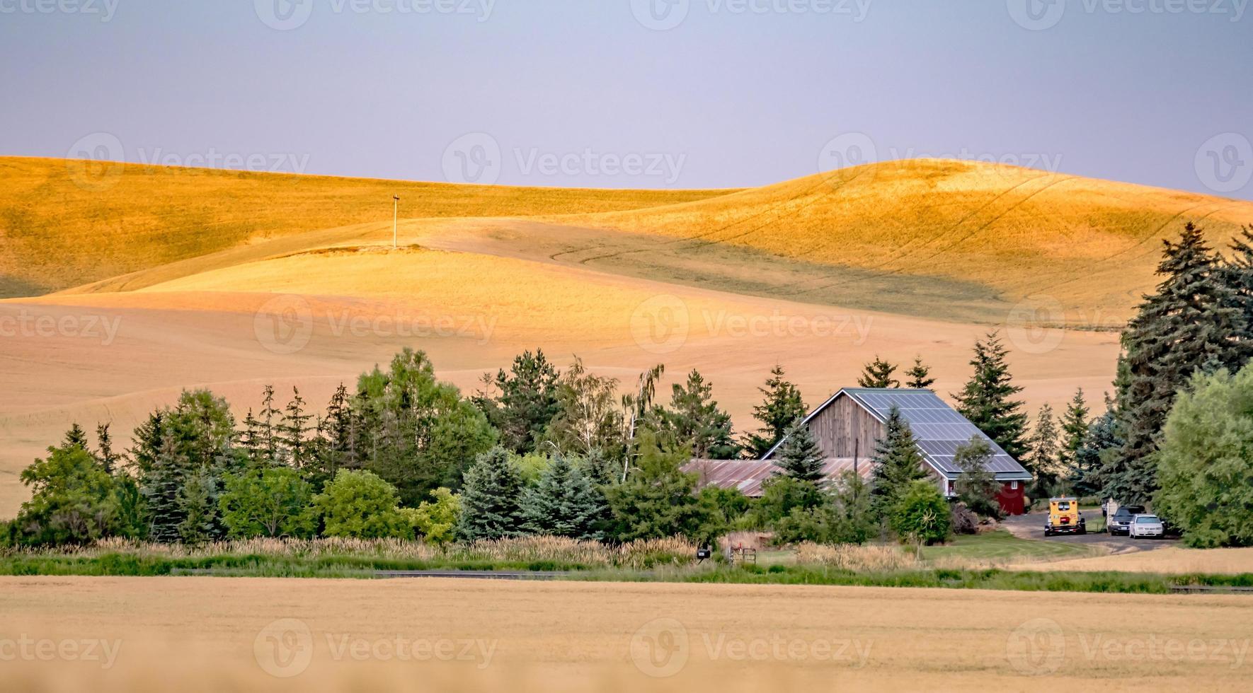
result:
[[[804,418],[804,423],[817,417],[840,397],[848,397],[871,413],[880,422],[886,422],[892,407],[901,412],[918,442],[918,452],[936,472],[952,479],[961,474],[961,468],[954,464],[957,448],[969,443],[971,437],[982,438],[992,448],[992,459],[987,470],[999,480],[1027,480],[1031,474],[1009,455],[995,440],[989,438],[966,417],[957,413],[945,400],[931,390],[905,388],[843,388],[819,404]],[[781,440],[762,459],[771,455],[783,444]]]

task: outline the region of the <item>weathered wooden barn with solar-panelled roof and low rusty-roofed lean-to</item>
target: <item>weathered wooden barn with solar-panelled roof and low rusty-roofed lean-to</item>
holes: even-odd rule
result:
[[[804,424],[822,447],[828,477],[845,469],[855,469],[862,477],[871,474],[871,458],[885,435],[885,422],[892,407],[910,423],[926,469],[945,495],[954,495],[954,482],[962,473],[954,464],[954,454],[977,435],[992,448],[987,470],[1001,483],[997,497],[1001,508],[1010,514],[1022,514],[1024,490],[1031,474],[931,390],[845,388],[811,412]],[[688,470],[700,474],[702,484],[761,495],[762,482],[774,474],[771,458],[779,445],[782,443],[761,460],[694,460]]]

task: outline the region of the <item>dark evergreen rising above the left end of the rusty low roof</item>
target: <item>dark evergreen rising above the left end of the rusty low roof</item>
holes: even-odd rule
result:
[[[713,385],[692,369],[687,384],[675,383],[670,408],[654,407],[654,428],[677,444],[690,445],[695,459],[734,459],[739,454],[730,432],[730,414],[718,408]]]

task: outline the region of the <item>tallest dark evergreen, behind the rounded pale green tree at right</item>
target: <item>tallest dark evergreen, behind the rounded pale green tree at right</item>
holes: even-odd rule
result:
[[[1247,358],[1238,295],[1200,229],[1189,223],[1178,243],[1163,243],[1163,280],[1123,333],[1118,413],[1125,442],[1101,470],[1105,495],[1121,503],[1145,503],[1157,490],[1157,435],[1188,379],[1207,364],[1234,370]]]

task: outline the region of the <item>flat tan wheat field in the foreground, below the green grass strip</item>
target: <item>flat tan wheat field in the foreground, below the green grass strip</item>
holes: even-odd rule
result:
[[[9,690],[1240,690],[1253,638],[1253,600],[1219,595],[471,579],[0,587]]]

